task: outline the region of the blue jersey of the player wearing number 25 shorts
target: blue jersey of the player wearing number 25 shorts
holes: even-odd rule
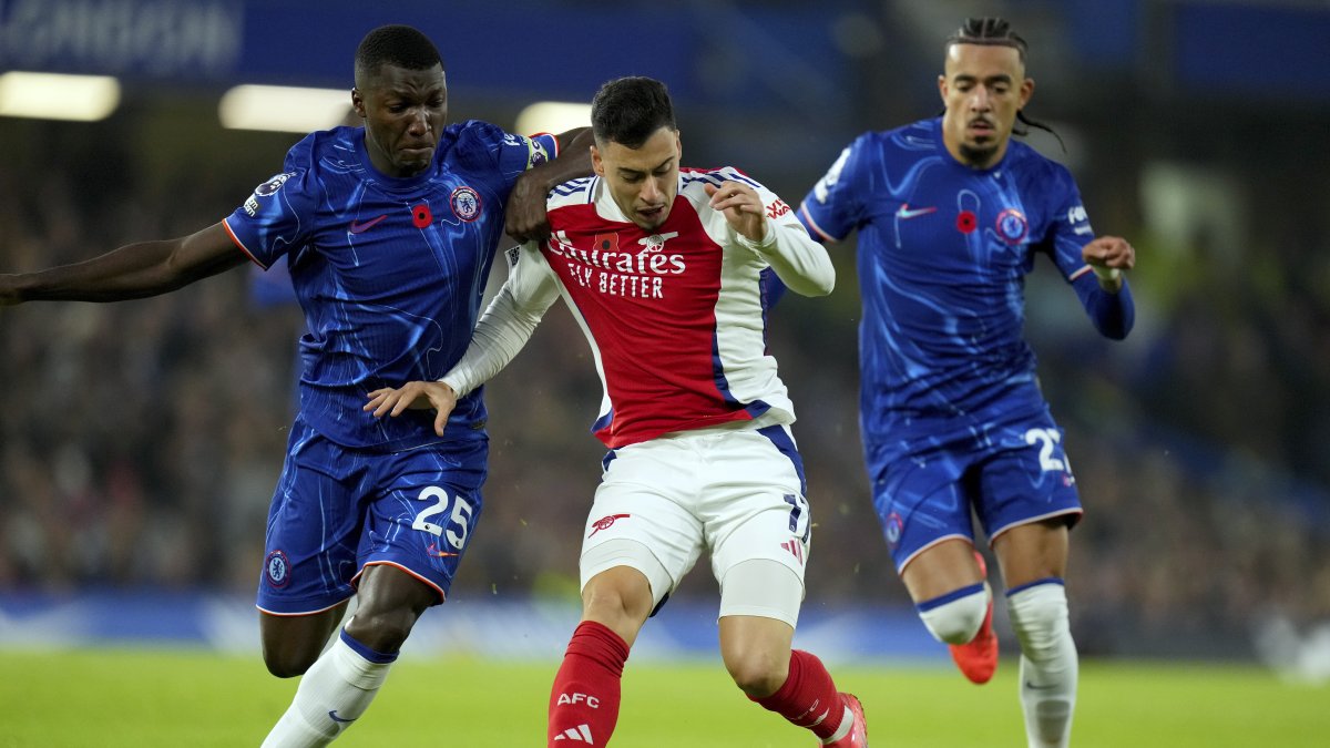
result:
[[[444,130],[430,169],[396,178],[371,165],[363,128],[315,132],[225,220],[259,266],[287,257],[307,329],[301,411],[317,431],[388,451],[440,441],[431,411],[376,419],[366,393],[438,379],[462,358],[513,182],[556,148],[467,121]],[[444,441],[483,438],[484,423],[477,390]]]

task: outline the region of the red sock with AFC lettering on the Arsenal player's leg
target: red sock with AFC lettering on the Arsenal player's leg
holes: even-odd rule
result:
[[[577,626],[549,693],[549,748],[609,743],[625,661],[628,643],[621,636],[593,620]]]

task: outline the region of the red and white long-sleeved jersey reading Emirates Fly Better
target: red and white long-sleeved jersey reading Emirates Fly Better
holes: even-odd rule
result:
[[[741,237],[710,208],[705,185],[726,180],[761,197],[762,242]],[[827,293],[834,270],[779,197],[733,168],[685,169],[669,218],[650,232],[624,216],[598,177],[560,185],[548,208],[551,238],[509,250],[511,276],[444,382],[464,393],[488,379],[563,295],[604,386],[592,430],[609,447],[758,417],[794,421],[766,350],[762,272],[778,256],[791,287],[811,280]]]

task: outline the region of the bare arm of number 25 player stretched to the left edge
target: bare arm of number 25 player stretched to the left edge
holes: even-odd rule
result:
[[[188,237],[129,244],[73,265],[0,276],[0,303],[144,298],[215,276],[245,260],[218,222]]]

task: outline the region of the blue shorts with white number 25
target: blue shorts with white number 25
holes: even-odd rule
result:
[[[258,608],[329,610],[355,594],[366,566],[390,564],[448,594],[480,519],[488,439],[400,453],[342,447],[303,419],[267,516]]]

